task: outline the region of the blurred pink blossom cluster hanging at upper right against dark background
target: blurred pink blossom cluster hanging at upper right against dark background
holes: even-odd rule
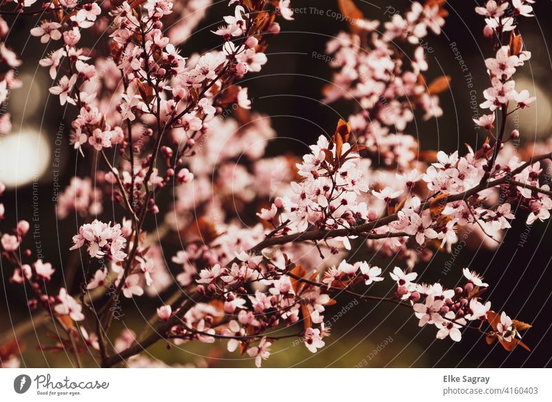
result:
[[[437,93],[447,88],[448,81],[441,77],[425,84],[422,73],[428,64],[422,39],[429,31],[440,34],[447,14],[443,7],[444,1],[424,6],[414,1],[404,16],[390,15],[382,32],[377,31],[379,21],[355,23],[358,30],[340,32],[326,48],[338,69],[335,85],[326,90],[326,102],[354,99],[360,110],[348,120],[357,141],[400,171],[408,170],[418,148],[416,140],[404,134],[406,124],[415,118],[413,112],[419,111],[424,119],[442,115]],[[412,55],[397,57],[412,46]]]

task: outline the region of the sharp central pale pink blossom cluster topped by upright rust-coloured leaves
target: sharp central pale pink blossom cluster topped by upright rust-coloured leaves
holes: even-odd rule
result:
[[[349,125],[342,121],[331,142],[319,137],[311,146],[312,153],[297,164],[304,180],[292,183],[293,195],[276,198],[270,209],[258,214],[275,227],[274,234],[304,231],[311,225],[319,229],[347,228],[368,219],[366,202],[357,197],[368,190],[358,163],[357,151],[362,147],[347,142],[349,133]],[[344,243],[350,249],[347,238]]]

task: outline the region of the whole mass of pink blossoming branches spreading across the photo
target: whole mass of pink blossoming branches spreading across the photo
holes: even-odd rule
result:
[[[32,3],[17,3],[16,9]],[[56,79],[50,93],[62,106],[75,106],[75,153],[98,157],[106,168],[94,180],[72,178],[57,200],[59,218],[84,220],[70,248],[86,247],[90,257],[79,270],[86,274],[77,294],[71,295],[76,287],[70,284],[48,293],[59,273],[21,250],[28,222],[0,236],[3,258],[14,266],[12,282],[30,286],[35,296],[29,306],[42,305],[66,330],[66,337],[58,334],[61,346],[51,350],[71,350],[77,361],[81,353],[99,353],[106,367],[121,361],[151,367],[156,363],[137,356],[137,345],[148,347],[159,338],[175,345],[222,340],[229,352],[239,350],[260,366],[270,347],[290,336],[279,336],[283,329],[297,329],[291,336],[310,352],[324,347],[324,314],[340,294],[408,307],[421,326],[437,327],[437,338],[460,341],[464,328],[471,328],[506,350],[525,347],[515,337],[529,325],[493,312],[480,297],[486,283],[469,269],[467,283],[455,289],[414,282],[416,262],[437,249],[450,251],[457,233],[479,231],[495,239],[510,227],[515,209],[529,211],[528,223],[549,218],[552,209],[541,165],[550,155],[523,162],[500,152],[509,144],[503,128],[493,134],[494,114],[476,121],[494,142],[487,139],[464,156],[440,151],[417,163],[418,144],[404,131],[415,118],[413,108],[426,119],[442,114],[437,94],[449,79],[426,86],[422,39],[428,32],[440,34],[445,1],[413,2],[404,15],[390,16],[381,34],[377,21],[358,18],[351,0],[339,2],[344,15],[354,11],[355,23],[328,43],[338,70],[326,102],[355,99],[362,110],[350,122],[339,121],[331,138],[319,137],[302,159],[263,157],[276,133],[268,117],[250,112],[242,87],[246,74],[266,64],[268,40],[280,30],[277,19],[293,20],[290,1],[230,0],[224,24],[213,30],[221,46],[183,57],[176,45],[186,41],[210,3],[59,0],[41,8],[46,18],[31,34],[59,45],[40,61]],[[502,112],[503,122],[509,104],[524,108],[534,100],[511,80],[531,56],[522,50],[520,35],[511,33],[509,46],[498,39],[512,31],[515,17],[531,15],[530,3],[491,0],[476,9],[487,17],[484,34],[495,55],[486,60],[491,88],[484,91],[482,108]],[[188,18],[190,12],[194,17]],[[106,46],[79,47],[83,32],[106,29]],[[413,46],[412,57],[403,57],[397,44]],[[11,68],[19,64],[5,46],[1,56]],[[3,82],[4,92],[17,85],[9,73]],[[518,135],[514,131],[510,138]],[[157,233],[148,236],[144,221],[161,211],[156,195],[169,186],[175,202]],[[121,223],[102,220],[108,201],[124,213]],[[244,210],[259,211],[258,222],[245,227],[236,213]],[[179,272],[170,298],[161,295],[175,282],[164,259],[166,233],[178,233],[181,244],[171,258]],[[395,267],[388,273],[396,283],[393,297],[368,293],[376,284],[385,286],[387,272],[348,260],[355,242],[406,261],[406,271]],[[143,294],[166,300],[146,328],[157,320],[155,337],[125,329],[110,347],[114,300]],[[88,300],[101,307],[92,311]],[[94,332],[85,320],[87,307],[97,314]],[[7,356],[2,362],[12,361],[10,353],[0,349]]]

